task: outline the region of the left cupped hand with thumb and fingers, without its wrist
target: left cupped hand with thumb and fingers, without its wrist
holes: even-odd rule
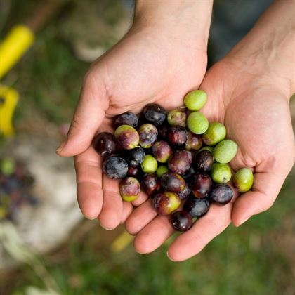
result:
[[[185,93],[199,87],[206,60],[206,44],[185,42],[159,28],[133,26],[91,66],[67,140],[57,150],[64,157],[76,155],[77,197],[84,216],[98,217],[104,228],[112,229],[133,209],[122,202],[118,182],[103,176],[102,159],[91,147],[93,136],[110,131],[114,115],[138,113],[147,103],[167,109],[181,105]]]

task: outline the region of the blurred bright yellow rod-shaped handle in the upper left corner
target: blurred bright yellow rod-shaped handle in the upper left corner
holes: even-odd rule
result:
[[[0,79],[24,55],[34,41],[34,33],[25,25],[15,25],[0,44]]]

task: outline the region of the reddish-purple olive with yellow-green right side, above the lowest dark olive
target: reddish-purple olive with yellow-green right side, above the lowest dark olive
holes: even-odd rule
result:
[[[160,215],[169,215],[181,205],[181,199],[175,192],[158,192],[152,204]]]

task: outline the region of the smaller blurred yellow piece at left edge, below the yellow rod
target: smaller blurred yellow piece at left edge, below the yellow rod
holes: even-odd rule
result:
[[[0,85],[0,134],[12,136],[13,112],[18,103],[18,92],[7,86]]]

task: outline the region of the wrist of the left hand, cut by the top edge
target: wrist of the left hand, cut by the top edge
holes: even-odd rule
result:
[[[164,34],[188,46],[206,48],[213,0],[137,0],[133,28]]]

